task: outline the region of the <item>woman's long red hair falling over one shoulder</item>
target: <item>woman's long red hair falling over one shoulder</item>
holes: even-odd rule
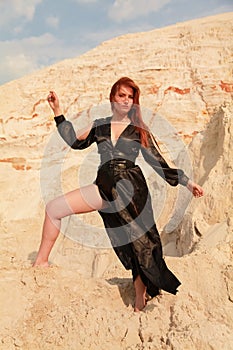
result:
[[[148,127],[142,120],[142,113],[141,113],[141,108],[140,108],[140,103],[139,103],[139,97],[140,97],[140,89],[139,87],[135,84],[135,82],[128,78],[128,77],[122,77],[119,80],[113,84],[111,91],[110,91],[110,102],[112,103],[112,109],[114,108],[114,102],[115,102],[115,95],[119,88],[125,85],[127,87],[132,88],[133,90],[133,105],[131,110],[129,111],[129,118],[132,121],[132,123],[136,126],[136,129],[140,133],[140,138],[141,138],[141,143],[144,147],[148,146]]]

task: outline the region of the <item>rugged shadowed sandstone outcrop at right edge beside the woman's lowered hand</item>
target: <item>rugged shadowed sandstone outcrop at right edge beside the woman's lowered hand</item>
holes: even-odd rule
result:
[[[164,233],[166,244],[176,242],[179,255],[191,252],[197,243],[215,246],[232,240],[232,115],[232,103],[220,107],[205,131],[190,144],[194,178],[203,186],[205,196],[200,200],[193,199],[178,228]],[[213,229],[217,227],[218,234]],[[165,227],[164,232],[166,231]]]

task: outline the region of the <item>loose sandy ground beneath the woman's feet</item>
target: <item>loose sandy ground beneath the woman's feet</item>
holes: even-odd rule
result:
[[[61,235],[53,267],[32,268],[40,229],[41,218],[2,229],[1,349],[233,348],[232,244],[166,257],[182,281],[178,295],[162,292],[135,313],[130,273],[111,250],[95,253],[93,268],[93,249],[81,247],[80,257]]]

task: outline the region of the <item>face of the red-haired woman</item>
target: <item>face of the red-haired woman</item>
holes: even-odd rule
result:
[[[121,115],[127,114],[133,105],[133,89],[121,85],[114,96],[114,111]]]

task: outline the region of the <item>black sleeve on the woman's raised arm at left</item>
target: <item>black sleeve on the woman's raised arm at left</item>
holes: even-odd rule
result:
[[[63,140],[73,149],[84,149],[95,142],[95,121],[93,126],[84,140],[77,139],[73,124],[66,120],[64,115],[59,115],[54,118],[59,134]]]

